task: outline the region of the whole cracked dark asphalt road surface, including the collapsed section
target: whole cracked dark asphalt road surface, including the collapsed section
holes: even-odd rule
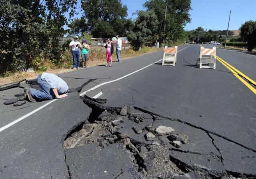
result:
[[[179,46],[175,67],[162,66],[157,61],[163,52],[155,52],[114,63],[112,68],[96,66],[59,75],[80,94],[99,86],[86,92],[88,99],[74,92],[52,103],[14,107],[3,102],[23,89],[0,91],[0,127],[46,105],[0,132],[0,178],[255,178],[255,94],[218,61],[216,70],[197,68],[199,49],[197,44]],[[217,55],[256,79],[253,54],[217,48]],[[131,74],[136,70],[140,71]],[[92,101],[100,92],[98,98],[106,100]],[[144,120],[127,115],[124,123],[109,128],[110,138],[90,140],[94,129],[84,138],[78,136],[87,143],[64,149],[64,141],[76,136],[88,120],[104,128],[121,116],[124,105],[143,113]],[[112,118],[97,122],[104,110]],[[152,130],[145,127],[149,123]],[[171,145],[168,136],[153,130],[160,125],[172,127],[189,141],[178,148]],[[134,126],[142,134],[134,133]],[[160,146],[145,140],[148,132]],[[166,165],[157,161],[159,157]]]

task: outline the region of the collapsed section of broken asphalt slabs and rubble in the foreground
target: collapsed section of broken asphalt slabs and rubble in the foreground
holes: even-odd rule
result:
[[[92,99],[86,95],[81,99],[92,108],[92,113],[65,137],[63,143],[72,179],[256,177],[226,170],[211,133],[206,132],[206,136],[215,152],[184,151],[180,148],[190,143],[190,136],[177,133],[174,127],[166,125],[171,119],[132,105],[109,107],[104,105],[106,99]],[[188,155],[193,155],[193,161]]]

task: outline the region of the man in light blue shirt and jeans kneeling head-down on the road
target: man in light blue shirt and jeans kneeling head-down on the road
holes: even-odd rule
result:
[[[53,98],[63,98],[66,97],[68,92],[68,85],[60,77],[50,74],[42,73],[38,75],[37,82],[42,88],[42,91],[36,90],[34,88],[25,88],[25,99],[30,102],[36,102],[36,99],[49,100]]]

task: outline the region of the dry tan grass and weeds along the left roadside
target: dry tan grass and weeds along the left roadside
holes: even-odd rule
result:
[[[161,48],[150,48],[150,47],[143,47],[142,50],[140,51],[134,51],[130,48],[124,49],[121,52],[121,58],[122,60],[126,60],[129,58],[141,56],[144,54],[152,53],[152,52],[157,52],[162,50]],[[113,61],[116,61],[116,52],[112,55]],[[6,74],[4,77],[0,77],[0,85],[2,84],[8,84],[12,82],[16,82],[18,80],[22,79],[35,79],[39,74],[42,72],[48,72],[52,74],[62,74],[66,72],[71,72],[73,71],[72,69],[72,55],[70,52],[67,52],[63,55],[62,57],[62,64],[59,66],[53,66],[52,63],[46,63],[45,61],[41,64],[40,70],[35,71],[35,72],[17,72],[13,74]],[[80,60],[82,60],[80,58]],[[105,64],[106,63],[106,48],[104,47],[93,47],[89,51],[89,60],[88,60],[88,67],[93,67],[97,66],[100,64]]]

